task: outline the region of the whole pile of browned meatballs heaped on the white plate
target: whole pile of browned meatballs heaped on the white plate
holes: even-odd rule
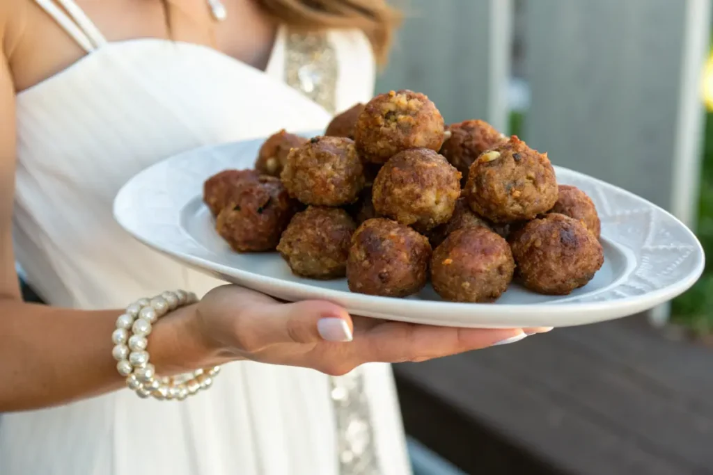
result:
[[[513,279],[566,295],[604,262],[600,220],[546,153],[483,120],[445,125],[410,90],[334,117],[324,136],[280,130],[254,169],[207,179],[204,201],[237,252],[275,251],[297,276],[406,297],[493,302]]]

